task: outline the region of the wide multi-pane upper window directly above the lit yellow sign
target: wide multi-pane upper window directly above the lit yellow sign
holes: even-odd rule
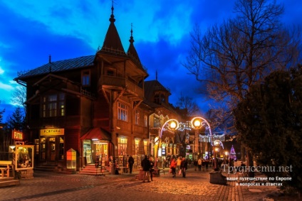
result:
[[[50,94],[42,98],[42,116],[65,116],[65,94]]]

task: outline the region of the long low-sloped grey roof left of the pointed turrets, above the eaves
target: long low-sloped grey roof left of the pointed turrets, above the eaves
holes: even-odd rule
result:
[[[28,77],[34,77],[36,75],[44,75],[50,72],[61,72],[64,70],[73,70],[81,67],[87,67],[93,65],[95,55],[84,56],[80,58],[73,58],[68,60],[60,60],[56,62],[49,62],[45,65],[37,67],[33,70],[25,72],[14,80],[23,80]]]

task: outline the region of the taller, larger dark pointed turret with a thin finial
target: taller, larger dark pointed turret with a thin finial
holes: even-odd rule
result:
[[[118,52],[120,54],[125,54],[125,50],[123,48],[123,45],[122,45],[122,42],[120,40],[120,36],[118,35],[118,30],[116,29],[115,27],[115,18],[114,18],[114,15],[113,15],[113,6],[111,7],[111,16],[109,18],[109,21],[110,21],[110,25],[109,25],[109,28],[108,28],[108,31],[106,33],[106,36],[105,36],[105,40],[104,40],[104,43],[103,43],[103,47],[101,50],[103,51],[110,51],[110,52],[113,52],[113,50],[118,50]]]

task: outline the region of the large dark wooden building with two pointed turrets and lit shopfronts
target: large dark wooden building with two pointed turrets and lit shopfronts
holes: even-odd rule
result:
[[[144,102],[147,70],[137,55],[132,29],[125,52],[112,13],[103,47],[95,55],[49,62],[14,80],[27,89],[28,138],[36,145],[36,166],[66,167],[76,151],[76,169],[108,165],[109,156],[150,154],[149,116]],[[125,160],[125,158],[123,158]]]

